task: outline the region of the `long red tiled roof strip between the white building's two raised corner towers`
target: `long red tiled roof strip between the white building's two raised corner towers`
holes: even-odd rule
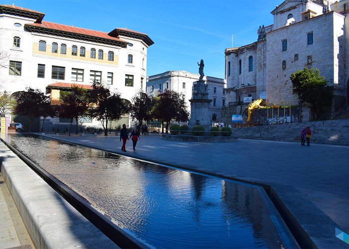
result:
[[[91,29],[86,29],[86,28],[78,28],[78,27],[74,27],[74,26],[58,24],[58,23],[49,22],[49,21],[42,21],[41,23],[27,23],[25,25],[26,26],[37,26],[37,27],[49,28],[49,29],[60,30],[60,31],[66,31],[66,32],[71,32],[71,33],[76,33],[76,34],[84,34],[84,35],[89,35],[89,36],[94,36],[94,37],[105,38],[105,39],[109,39],[109,40],[121,41],[121,42],[125,42],[125,43],[127,42],[127,41],[121,40],[119,38],[110,36],[106,32],[101,32],[101,31],[96,31],[96,30],[91,30]]]

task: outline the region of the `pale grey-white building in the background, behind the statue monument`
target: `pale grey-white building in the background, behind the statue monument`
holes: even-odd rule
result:
[[[167,71],[147,77],[147,93],[156,96],[158,93],[169,89],[183,96],[188,111],[190,112],[190,102],[192,97],[192,86],[199,80],[200,75],[185,71]],[[219,120],[222,107],[226,106],[226,84],[223,79],[209,76],[203,77],[208,85],[208,99],[212,100],[210,105],[210,115],[216,114]]]

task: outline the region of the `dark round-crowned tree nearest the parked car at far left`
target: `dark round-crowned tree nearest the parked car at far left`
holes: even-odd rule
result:
[[[31,131],[33,120],[47,115],[47,110],[51,108],[50,97],[46,96],[39,89],[33,89],[31,87],[27,87],[26,92],[23,91],[18,94],[16,103],[13,113],[29,118],[29,132]]]

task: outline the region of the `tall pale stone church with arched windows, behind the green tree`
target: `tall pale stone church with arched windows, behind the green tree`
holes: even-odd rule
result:
[[[334,106],[348,104],[347,9],[349,0],[283,1],[271,12],[274,23],[258,29],[256,42],[225,49],[228,102],[252,97],[298,105],[290,75],[307,67],[318,68],[334,89]]]

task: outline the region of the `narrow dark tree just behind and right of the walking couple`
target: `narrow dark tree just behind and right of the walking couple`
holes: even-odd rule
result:
[[[136,93],[131,101],[131,117],[139,122],[138,133],[140,133],[141,124],[143,121],[148,121],[151,119],[153,100],[141,89]]]

